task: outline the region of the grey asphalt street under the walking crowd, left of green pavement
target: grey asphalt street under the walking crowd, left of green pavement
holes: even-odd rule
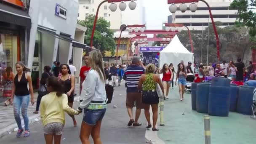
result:
[[[141,111],[139,122],[140,127],[127,127],[128,114],[125,108],[125,87],[115,88],[115,97],[108,105],[106,115],[101,126],[101,138],[103,144],[145,144],[145,131],[147,122],[144,111]],[[113,108],[116,105],[117,108]],[[78,102],[75,102],[75,108]],[[134,109],[135,111],[135,109]],[[61,144],[80,144],[79,133],[83,115],[76,116],[78,121],[77,128],[72,126],[72,120],[67,115],[64,133]],[[13,118],[14,119],[14,118]],[[1,144],[44,144],[43,129],[41,122],[30,124],[31,136],[29,138],[15,138],[16,132],[0,138]]]

